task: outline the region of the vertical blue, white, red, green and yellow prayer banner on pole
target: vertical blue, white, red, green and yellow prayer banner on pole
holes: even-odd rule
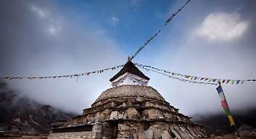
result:
[[[235,125],[234,119],[232,118],[232,115],[230,114],[229,105],[227,104],[226,97],[224,95],[224,92],[223,92],[220,84],[219,84],[219,87],[216,88],[216,90],[218,91],[219,98],[221,99],[221,106],[223,107],[224,112],[227,114],[227,117],[229,118],[230,125]]]

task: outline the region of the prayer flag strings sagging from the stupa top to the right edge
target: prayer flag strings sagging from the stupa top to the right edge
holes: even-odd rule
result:
[[[156,67],[152,67],[149,65],[143,65],[143,64],[136,64],[138,67],[145,67],[145,68],[149,68],[149,69],[153,69],[157,72],[163,72],[165,74],[168,74],[169,76],[171,76],[172,78],[178,78],[180,80],[184,80],[186,82],[189,81],[197,81],[197,82],[204,82],[206,84],[211,84],[213,83],[214,85],[218,85],[218,82],[221,82],[221,84],[229,84],[229,85],[242,85],[244,84],[244,82],[256,82],[255,79],[248,79],[248,80],[230,80],[230,79],[218,79],[218,78],[211,78],[211,77],[199,77],[199,76],[193,76],[193,75],[183,75],[180,73],[176,73],[176,72],[169,72],[165,69],[158,69]]]

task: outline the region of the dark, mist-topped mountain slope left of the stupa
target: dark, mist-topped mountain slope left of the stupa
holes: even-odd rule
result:
[[[57,120],[70,118],[50,105],[20,96],[0,82],[0,128],[5,133],[49,133],[50,124]]]

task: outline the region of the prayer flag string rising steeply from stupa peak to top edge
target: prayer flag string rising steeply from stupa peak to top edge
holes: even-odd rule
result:
[[[188,0],[188,1],[186,2],[186,4],[188,4],[189,1],[190,1],[190,0]],[[178,12],[180,12],[180,11],[186,6],[186,4],[184,4],[183,6],[180,7],[180,9],[178,9],[177,11],[175,11],[175,12],[165,21],[165,24],[163,24],[163,27],[162,27],[161,29],[159,29],[154,35],[152,35],[152,36],[150,37],[150,39],[147,39],[147,41],[137,50],[137,52],[135,52],[135,53],[132,55],[132,57],[128,57],[128,60],[131,61],[132,59],[134,59],[134,57],[136,57],[137,54],[139,54],[140,51],[141,51],[144,47],[146,47],[147,44],[149,44],[152,39],[154,39],[155,37],[157,37],[157,34],[159,34],[159,33],[162,31],[162,29],[173,19],[174,16],[176,16],[176,15],[178,14]]]

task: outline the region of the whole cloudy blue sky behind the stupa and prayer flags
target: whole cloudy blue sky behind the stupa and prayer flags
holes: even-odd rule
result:
[[[0,1],[0,76],[49,76],[124,64],[186,1]],[[256,78],[256,2],[192,0],[133,59],[172,72],[224,79]],[[186,115],[222,112],[216,86],[142,72]],[[86,77],[10,80],[37,102],[81,114],[119,69]],[[256,105],[256,85],[222,85],[231,110]]]

